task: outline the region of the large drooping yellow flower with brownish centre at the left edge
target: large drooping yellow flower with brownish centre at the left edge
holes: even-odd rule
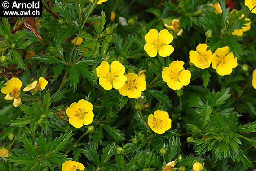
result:
[[[14,98],[20,97],[22,82],[19,78],[12,78],[4,85],[6,86],[1,88],[1,92],[6,94],[5,100],[13,100]]]

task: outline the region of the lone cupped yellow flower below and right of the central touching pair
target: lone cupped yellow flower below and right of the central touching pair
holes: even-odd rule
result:
[[[157,134],[165,133],[172,126],[172,120],[166,111],[157,110],[148,117],[148,125]]]

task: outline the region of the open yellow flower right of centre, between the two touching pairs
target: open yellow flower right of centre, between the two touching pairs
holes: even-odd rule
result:
[[[162,78],[168,87],[179,90],[190,83],[191,73],[183,68],[183,61],[173,61],[169,67],[163,68]]]

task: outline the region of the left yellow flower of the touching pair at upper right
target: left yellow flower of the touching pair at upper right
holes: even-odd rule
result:
[[[212,51],[207,51],[207,47],[206,44],[199,44],[196,51],[190,51],[190,61],[198,68],[209,68],[212,63]]]

